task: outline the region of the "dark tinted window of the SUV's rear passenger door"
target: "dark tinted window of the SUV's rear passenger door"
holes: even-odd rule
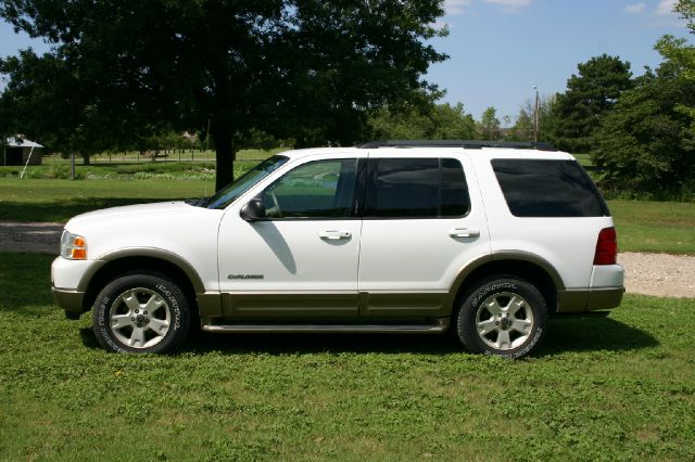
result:
[[[366,217],[462,217],[470,208],[464,169],[453,158],[370,159],[367,176]]]

